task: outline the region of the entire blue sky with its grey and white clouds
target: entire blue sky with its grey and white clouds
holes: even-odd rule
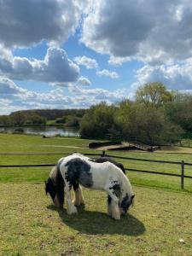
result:
[[[2,0],[0,114],[192,92],[189,0]]]

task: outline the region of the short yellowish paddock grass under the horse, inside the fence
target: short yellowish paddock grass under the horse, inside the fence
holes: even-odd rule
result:
[[[106,214],[103,192],[84,189],[85,209],[68,216],[65,209],[53,207],[43,183],[1,183],[0,252],[192,255],[192,196],[139,187],[134,191],[135,207],[114,221]]]

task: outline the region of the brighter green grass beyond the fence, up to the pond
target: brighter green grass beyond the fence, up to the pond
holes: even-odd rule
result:
[[[92,141],[93,140],[85,140],[77,137],[43,138],[38,136],[0,134],[0,154],[23,153],[23,155],[0,155],[0,165],[55,164],[56,161],[65,154],[75,151],[79,153],[101,153],[101,151],[96,151],[93,149],[91,150],[87,148],[88,143]],[[149,160],[184,160],[185,162],[192,163],[192,154],[186,154],[185,148],[171,148],[171,152],[168,149],[169,148],[163,148],[163,150],[154,153],[137,151],[108,151],[107,153]],[[171,172],[177,174],[180,174],[181,172],[181,166],[179,165],[151,163],[136,160],[119,161],[121,161],[127,168],[156,172]],[[0,182],[43,182],[48,177],[49,172],[49,167],[11,169],[1,168]],[[192,166],[185,167],[185,174],[192,176]],[[130,178],[131,183],[134,184],[180,190],[179,177],[168,177],[138,172],[127,172],[127,175]],[[185,179],[184,188],[186,191],[192,192],[191,179]]]

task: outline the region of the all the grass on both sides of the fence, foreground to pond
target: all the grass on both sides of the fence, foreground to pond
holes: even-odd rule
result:
[[[90,140],[0,134],[0,165],[55,164],[67,153],[99,153]],[[155,153],[108,152],[192,163],[186,148]],[[125,167],[180,173],[180,166],[122,160]],[[192,181],[127,172],[135,207],[119,221],[106,214],[106,195],[84,189],[85,209],[67,216],[44,194],[50,167],[0,169],[0,255],[192,255]],[[192,168],[186,168],[192,175]]]

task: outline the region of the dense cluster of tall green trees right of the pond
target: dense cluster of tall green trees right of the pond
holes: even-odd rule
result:
[[[192,96],[154,82],[140,86],[135,100],[90,107],[80,122],[81,137],[174,143],[192,132]]]

